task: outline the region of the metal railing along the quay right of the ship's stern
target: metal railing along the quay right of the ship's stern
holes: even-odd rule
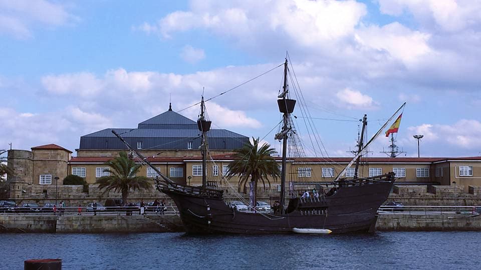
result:
[[[410,214],[410,215],[428,215],[428,214],[480,214],[481,206],[455,206],[455,205],[381,205],[378,214]]]

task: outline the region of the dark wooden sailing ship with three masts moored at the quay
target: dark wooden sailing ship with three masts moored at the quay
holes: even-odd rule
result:
[[[387,199],[395,181],[394,173],[389,172],[374,177],[358,177],[359,158],[367,145],[382,131],[393,116],[365,145],[359,149],[352,161],[333,181],[333,187],[320,196],[291,197],[286,205],[286,159],[288,135],[292,131],[290,121],[296,100],[289,98],[287,85],[288,62],[284,64],[284,86],[279,95],[278,105],[283,113],[283,127],[276,135],[282,140],[282,169],[280,190],[280,211],[277,213],[258,211],[238,211],[224,200],[223,190],[207,188],[206,156],[207,132],[211,122],[204,114],[204,101],[197,120],[202,133],[202,185],[191,186],[172,181],[144,158],[136,149],[115,131],[114,132],[147,165],[157,171],[157,189],[167,194],[178,207],[182,223],[188,233],[291,233],[293,231],[332,231],[333,233],[367,232],[374,229],[379,206]],[[364,118],[364,124],[366,119]],[[356,172],[352,179],[342,178],[346,168],[356,162]]]

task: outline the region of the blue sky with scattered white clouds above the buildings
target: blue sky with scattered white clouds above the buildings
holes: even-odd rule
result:
[[[423,134],[421,156],[478,156],[479,14],[481,0],[0,0],[0,149],[75,151],[80,136],[135,128],[169,102],[195,120],[187,107],[202,92],[288,53],[329,156],[352,155],[357,119],[367,114],[371,136],[403,102],[403,155],[417,156]],[[275,68],[208,101],[213,128],[278,147],[282,76]],[[389,143],[382,135],[370,155]]]

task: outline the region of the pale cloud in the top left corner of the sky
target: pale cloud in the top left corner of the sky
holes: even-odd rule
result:
[[[76,21],[63,5],[47,0],[0,0],[0,32],[17,38],[32,37],[37,25],[60,26]]]

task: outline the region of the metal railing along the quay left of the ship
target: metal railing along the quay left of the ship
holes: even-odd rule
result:
[[[147,215],[177,215],[176,205],[144,206]],[[140,206],[66,206],[66,207],[9,207],[0,208],[0,215],[121,215],[140,214]]]

